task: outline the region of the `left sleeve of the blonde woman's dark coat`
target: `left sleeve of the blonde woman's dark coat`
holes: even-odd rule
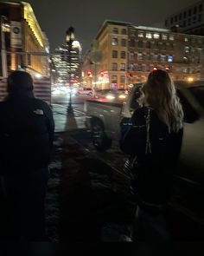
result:
[[[125,128],[123,128],[125,126]],[[137,108],[131,119],[120,123],[121,137],[119,145],[125,154],[137,155],[144,152],[146,141],[146,124],[143,108]]]

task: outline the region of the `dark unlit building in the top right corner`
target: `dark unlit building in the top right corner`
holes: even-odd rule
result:
[[[171,14],[165,20],[165,27],[176,32],[204,36],[204,1]]]

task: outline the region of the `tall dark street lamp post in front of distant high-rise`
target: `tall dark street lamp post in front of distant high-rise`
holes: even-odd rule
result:
[[[73,29],[73,27],[69,27],[69,29],[66,32],[66,42],[67,42],[67,46],[68,46],[68,62],[69,62],[69,70],[68,70],[69,87],[71,87],[71,64],[72,64],[71,51],[72,51],[72,48],[73,48],[74,38],[75,38],[74,29]],[[68,107],[67,107],[67,112],[69,114],[73,114],[72,90],[71,90],[71,88],[70,88],[70,91],[69,91],[69,104],[68,104]]]

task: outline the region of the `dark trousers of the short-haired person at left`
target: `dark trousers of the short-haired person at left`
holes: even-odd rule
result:
[[[27,174],[0,175],[1,240],[46,240],[48,177],[48,167]]]

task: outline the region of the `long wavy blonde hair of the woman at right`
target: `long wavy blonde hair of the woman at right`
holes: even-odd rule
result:
[[[139,102],[156,110],[169,132],[177,132],[183,126],[182,105],[175,91],[175,84],[166,71],[161,69],[150,72],[143,84]]]

